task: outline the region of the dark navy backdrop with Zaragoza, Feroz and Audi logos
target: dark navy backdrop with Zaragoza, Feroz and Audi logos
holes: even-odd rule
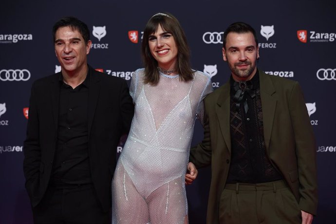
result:
[[[149,1],[13,0],[0,3],[0,224],[31,224],[24,188],[22,146],[32,83],[60,71],[52,27],[63,16],[89,26],[88,62],[130,83],[141,68],[140,45],[147,20],[157,12],[179,19],[191,48],[193,68],[212,77],[214,89],[230,72],[222,58],[223,32],[235,22],[258,35],[259,69],[299,81],[317,141],[318,214],[314,224],[336,223],[336,1]],[[192,145],[203,138],[196,121]],[[283,139],[286,141],[286,139]],[[122,150],[122,143],[115,149]],[[205,223],[209,168],[187,186],[189,221]]]

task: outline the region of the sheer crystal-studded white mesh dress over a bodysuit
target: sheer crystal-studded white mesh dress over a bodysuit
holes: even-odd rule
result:
[[[203,120],[208,75],[188,82],[160,73],[152,86],[135,71],[131,130],[112,180],[112,224],[183,224],[187,221],[185,174],[194,122]]]

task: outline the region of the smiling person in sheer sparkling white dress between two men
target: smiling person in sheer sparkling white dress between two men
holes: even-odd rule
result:
[[[191,69],[187,38],[168,13],[149,19],[142,57],[145,68],[130,86],[131,131],[112,180],[112,223],[186,224],[189,148],[211,80]]]

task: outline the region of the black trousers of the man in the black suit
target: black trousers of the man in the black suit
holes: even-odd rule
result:
[[[35,224],[111,224],[103,212],[93,185],[49,186],[33,207]]]

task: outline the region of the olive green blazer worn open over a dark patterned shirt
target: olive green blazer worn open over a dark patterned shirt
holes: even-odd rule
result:
[[[299,83],[259,70],[266,154],[278,168],[301,210],[316,214],[317,171],[313,129]],[[230,83],[208,94],[202,143],[190,150],[197,168],[211,164],[208,224],[219,221],[219,204],[231,160]]]

